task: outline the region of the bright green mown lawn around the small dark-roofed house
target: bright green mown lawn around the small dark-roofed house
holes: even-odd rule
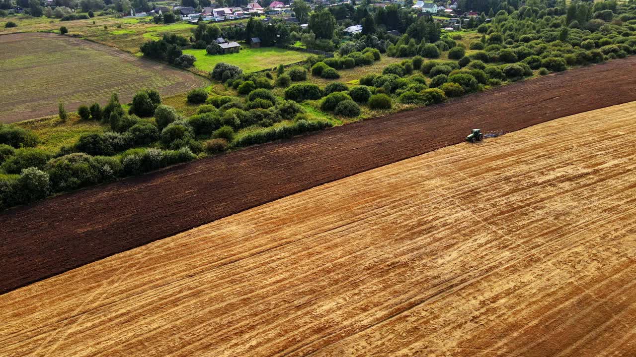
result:
[[[226,55],[208,55],[205,50],[184,50],[183,53],[197,57],[195,67],[205,72],[212,71],[219,62],[237,65],[243,69],[243,72],[249,73],[274,68],[279,64],[294,64],[309,57],[309,53],[275,47],[243,47],[238,53],[228,53]]]

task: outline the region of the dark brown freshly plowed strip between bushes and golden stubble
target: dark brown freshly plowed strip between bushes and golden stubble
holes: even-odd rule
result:
[[[636,57],[47,199],[0,215],[0,292],[456,144],[471,128],[518,130],[632,100]]]

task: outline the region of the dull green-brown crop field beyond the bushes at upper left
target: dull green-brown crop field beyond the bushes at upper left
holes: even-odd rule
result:
[[[125,103],[140,88],[173,95],[207,85],[204,78],[113,48],[68,36],[25,33],[0,36],[0,122],[55,114],[58,101],[73,111],[107,102]]]

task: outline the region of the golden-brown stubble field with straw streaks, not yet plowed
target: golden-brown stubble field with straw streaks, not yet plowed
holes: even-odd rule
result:
[[[636,103],[446,147],[0,296],[3,356],[634,356]]]

